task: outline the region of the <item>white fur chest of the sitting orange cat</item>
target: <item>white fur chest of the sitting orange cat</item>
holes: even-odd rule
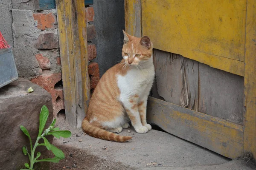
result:
[[[129,98],[132,95],[141,96],[148,93],[154,80],[154,66],[148,69],[131,69],[125,76],[117,76],[117,85],[121,92],[120,98]],[[149,89],[148,89],[148,86]]]

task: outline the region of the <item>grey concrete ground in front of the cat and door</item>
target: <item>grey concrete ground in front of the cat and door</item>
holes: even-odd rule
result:
[[[203,147],[158,130],[139,134],[133,128],[125,129],[120,135],[133,138],[129,142],[118,143],[93,138],[82,130],[72,130],[64,116],[58,117],[57,125],[62,130],[71,130],[72,136],[68,139],[55,139],[55,145],[81,149],[99,159],[107,160],[105,164],[117,162],[127,166],[127,169],[256,170],[256,166],[249,160],[230,161]]]

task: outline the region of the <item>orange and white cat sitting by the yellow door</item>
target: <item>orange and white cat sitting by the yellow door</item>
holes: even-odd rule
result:
[[[123,32],[123,59],[99,80],[82,122],[90,136],[116,142],[132,138],[112,133],[128,128],[130,120],[137,133],[151,130],[146,121],[146,105],[155,74],[150,39]]]

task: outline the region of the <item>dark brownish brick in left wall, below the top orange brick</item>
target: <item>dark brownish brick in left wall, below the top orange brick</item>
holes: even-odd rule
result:
[[[58,34],[45,33],[40,34],[35,42],[35,48],[38,49],[53,49],[59,48]]]

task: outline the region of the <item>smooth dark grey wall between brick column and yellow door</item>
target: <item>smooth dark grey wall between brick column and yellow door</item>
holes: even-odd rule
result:
[[[109,68],[122,59],[123,33],[125,29],[124,0],[94,0],[94,25],[97,57],[102,76]]]

